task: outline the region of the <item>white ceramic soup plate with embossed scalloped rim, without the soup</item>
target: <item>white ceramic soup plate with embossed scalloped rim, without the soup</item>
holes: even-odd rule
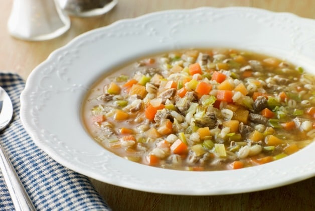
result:
[[[145,166],[105,150],[86,133],[82,100],[104,72],[148,54],[228,47],[265,53],[315,73],[315,21],[261,9],[170,10],[118,21],[78,36],[30,74],[21,120],[34,142],[81,174],[126,188],[217,195],[263,190],[315,175],[315,143],[284,159],[230,171],[186,172]]]

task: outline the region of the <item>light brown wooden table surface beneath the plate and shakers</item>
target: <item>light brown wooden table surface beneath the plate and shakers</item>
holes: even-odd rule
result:
[[[27,42],[12,38],[7,21],[12,0],[0,1],[0,70],[20,74],[30,72],[55,49],[77,35],[106,26],[119,19],[146,13],[200,6],[249,6],[277,12],[291,12],[315,19],[315,0],[119,0],[109,13],[92,18],[71,18],[71,28],[49,41]],[[113,210],[315,210],[315,177],[270,190],[223,195],[178,196],[146,193],[91,179]]]

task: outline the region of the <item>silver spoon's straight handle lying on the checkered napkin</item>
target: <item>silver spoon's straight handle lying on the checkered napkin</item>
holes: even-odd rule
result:
[[[0,149],[0,169],[7,184],[15,209],[17,211],[36,210],[1,145]]]

